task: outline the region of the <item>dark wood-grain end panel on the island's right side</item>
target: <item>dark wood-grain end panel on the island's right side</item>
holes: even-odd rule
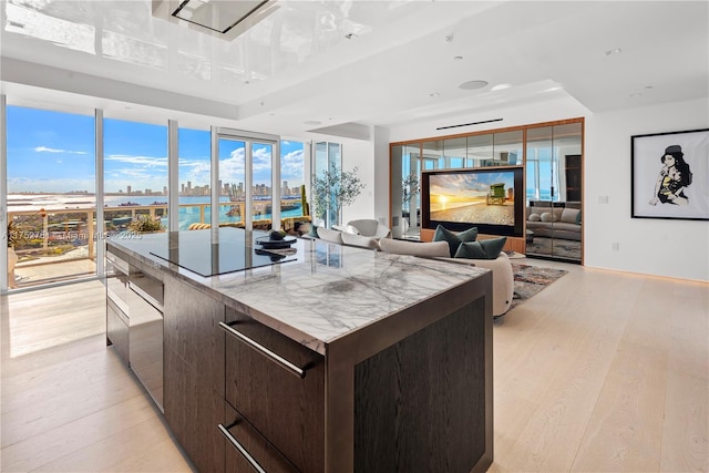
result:
[[[354,366],[354,472],[485,471],[492,463],[484,299]]]

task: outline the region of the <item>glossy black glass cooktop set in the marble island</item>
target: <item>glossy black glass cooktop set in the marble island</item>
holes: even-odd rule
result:
[[[172,233],[167,247],[153,248],[151,255],[164,259],[199,276],[209,277],[245,269],[294,261],[296,248],[288,244],[277,248],[266,232],[246,232],[239,228],[219,228]],[[288,241],[296,241],[289,238]]]

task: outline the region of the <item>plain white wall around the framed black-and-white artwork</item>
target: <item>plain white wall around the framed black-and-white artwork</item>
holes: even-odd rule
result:
[[[586,266],[709,280],[709,222],[630,218],[630,136],[707,128],[708,111],[701,100],[587,117]]]

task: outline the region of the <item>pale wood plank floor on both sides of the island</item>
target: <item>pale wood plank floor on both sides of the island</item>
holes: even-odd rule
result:
[[[709,471],[709,285],[569,274],[494,327],[493,472]],[[3,472],[189,471],[105,348],[103,287],[1,298]]]

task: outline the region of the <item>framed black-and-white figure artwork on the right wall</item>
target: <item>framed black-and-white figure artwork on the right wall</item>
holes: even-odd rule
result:
[[[630,141],[631,217],[709,220],[709,128]]]

